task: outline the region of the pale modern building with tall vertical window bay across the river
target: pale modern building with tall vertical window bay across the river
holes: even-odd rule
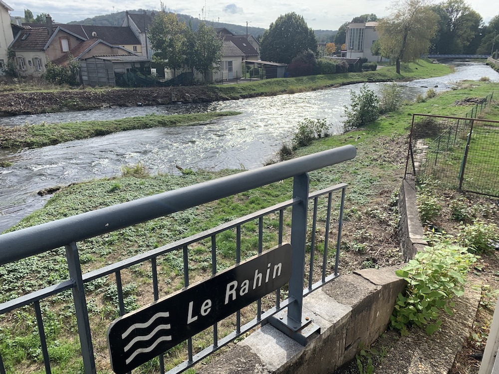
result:
[[[371,53],[373,43],[379,39],[377,24],[378,22],[350,23],[346,29],[346,53],[342,51],[341,56],[378,61],[378,56]]]

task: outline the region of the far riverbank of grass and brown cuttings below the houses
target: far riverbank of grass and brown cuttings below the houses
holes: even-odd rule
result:
[[[32,85],[15,85],[3,87],[3,94],[0,95],[0,116],[136,106],[138,103],[146,106],[176,102],[205,103],[304,92],[351,83],[429,78],[449,74],[451,71],[451,66],[432,64],[430,60],[418,60],[404,65],[401,74],[395,73],[394,66],[386,66],[377,71],[363,73],[239,81],[238,84],[233,82],[208,86],[87,89],[54,89],[53,86],[40,86],[36,89]],[[0,91],[1,89],[2,86]]]

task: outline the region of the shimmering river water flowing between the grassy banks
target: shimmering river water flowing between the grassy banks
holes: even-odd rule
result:
[[[464,79],[488,76],[499,82],[499,73],[482,63],[457,62],[456,71],[444,77],[401,83],[403,95],[413,99],[426,93],[451,89]],[[369,83],[379,91],[382,83]],[[258,97],[209,104],[178,104],[156,107],[100,109],[1,118],[0,125],[56,123],[75,120],[113,119],[145,114],[196,113],[236,110],[242,114],[201,126],[133,130],[102,137],[66,142],[17,152],[0,150],[0,160],[13,166],[0,168],[0,232],[43,206],[48,196],[37,191],[120,174],[127,164],[143,163],[152,173],[176,173],[182,168],[221,170],[254,169],[274,157],[289,142],[299,121],[325,118],[330,133],[342,132],[344,107],[350,91],[362,84],[313,92]]]

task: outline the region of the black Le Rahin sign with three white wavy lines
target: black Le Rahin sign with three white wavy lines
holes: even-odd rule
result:
[[[147,307],[107,330],[111,367],[127,373],[286,284],[291,245],[282,244]]]

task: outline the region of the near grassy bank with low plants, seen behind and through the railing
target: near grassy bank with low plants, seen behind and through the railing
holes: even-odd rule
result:
[[[379,267],[399,263],[396,195],[400,187],[407,152],[407,134],[412,113],[460,115],[471,110],[472,104],[455,106],[457,99],[485,97],[499,85],[483,82],[467,82],[461,89],[438,95],[426,102],[402,107],[375,124],[343,135],[323,138],[311,146],[299,149],[296,156],[310,154],[332,147],[353,144],[358,155],[340,165],[310,173],[311,189],[316,190],[339,182],[348,183],[344,213],[343,240],[340,255],[340,273],[354,269]],[[485,115],[498,118],[498,106],[493,105]],[[263,160],[262,160],[263,162]],[[103,179],[81,183],[57,192],[47,205],[23,219],[12,230],[27,227],[77,213],[130,201],[146,195],[178,187],[189,186],[239,171],[208,173],[186,171],[182,176],[155,175],[146,178],[129,177]],[[180,237],[217,226],[228,217],[237,217],[259,208],[281,202],[291,196],[290,181],[261,187],[237,196],[215,201],[198,208],[158,218],[147,223],[86,240],[79,244],[79,255],[84,272],[115,262],[146,250],[170,243]],[[470,199],[480,204],[481,197]],[[494,216],[497,219],[497,214]],[[285,219],[285,230],[288,230]],[[265,219],[263,247],[269,248],[277,241],[278,217]],[[272,229],[273,228],[273,229]],[[242,257],[256,253],[258,246],[257,222],[249,222],[242,228]],[[323,243],[324,233],[318,233],[318,246]],[[235,258],[235,241],[230,233],[217,237],[220,268]],[[211,274],[210,243],[203,243],[190,254],[192,279]],[[152,298],[150,290],[150,266],[135,266],[123,272],[125,307],[132,310],[146,305]],[[182,258],[165,255],[158,259],[160,296],[167,295],[183,286]],[[7,276],[8,274],[8,276]],[[39,274],[39,275],[36,275]],[[0,302],[67,279],[64,250],[50,251],[35,258],[18,261],[0,267]],[[111,277],[112,278],[112,277]],[[110,321],[118,316],[116,286],[113,279],[102,279],[86,287],[86,297],[91,318],[94,349],[99,358],[98,371],[110,373],[105,331]],[[74,338],[76,322],[74,311],[65,306],[70,303],[69,293],[42,302],[45,334],[49,341],[49,356],[53,373],[79,373],[79,345]],[[54,311],[57,310],[57,313]],[[42,359],[36,334],[36,324],[30,309],[0,316],[0,352],[7,372],[41,373]],[[219,334],[228,326],[221,325]],[[197,336],[196,351],[210,343],[210,332]],[[55,342],[54,342],[55,341]],[[168,352],[167,369],[185,359],[184,346]],[[150,373],[157,362],[140,368],[138,373]],[[194,371],[191,371],[194,373]]]

